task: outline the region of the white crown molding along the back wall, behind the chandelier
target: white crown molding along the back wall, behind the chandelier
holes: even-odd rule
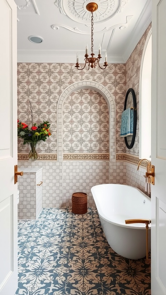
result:
[[[77,50],[77,52],[79,52]],[[17,50],[18,63],[76,63],[76,51],[69,50]],[[95,51],[94,51],[95,53]],[[84,63],[84,51],[79,52],[80,63]],[[97,51],[95,53],[98,54]],[[103,60],[105,51],[102,51]],[[104,63],[104,61],[103,61]],[[108,64],[125,63],[122,55],[108,55]],[[102,64],[102,60],[101,60]]]

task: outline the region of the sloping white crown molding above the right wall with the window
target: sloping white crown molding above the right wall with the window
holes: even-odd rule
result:
[[[123,59],[125,63],[129,59],[131,53],[134,51],[136,45],[140,41],[141,37],[144,35],[144,32],[149,27],[152,22],[152,2],[149,0],[147,4],[144,6],[142,13],[138,21],[135,24],[135,27],[131,33],[130,41],[128,42],[126,49],[124,50]],[[146,23],[146,24],[145,24]],[[142,24],[145,24],[142,26]]]

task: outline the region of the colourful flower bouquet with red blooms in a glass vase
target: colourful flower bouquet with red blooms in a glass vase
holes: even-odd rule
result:
[[[30,103],[30,109],[32,112],[32,105]],[[45,141],[47,137],[51,135],[51,132],[49,131],[50,124],[48,121],[43,121],[43,123],[40,123],[40,125],[36,126],[36,123],[33,124],[32,127],[29,128],[26,123],[19,122],[17,120],[17,135],[20,138],[23,138],[24,142],[23,145],[30,142],[30,153],[28,155],[28,158],[31,160],[37,160],[38,153],[36,152],[36,144],[38,141],[43,140]]]

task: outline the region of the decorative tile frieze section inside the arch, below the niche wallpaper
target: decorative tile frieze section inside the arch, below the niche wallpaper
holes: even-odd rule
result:
[[[63,154],[64,160],[109,160],[109,154]]]

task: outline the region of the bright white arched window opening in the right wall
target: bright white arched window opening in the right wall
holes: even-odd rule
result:
[[[140,158],[151,160],[152,35],[144,47],[140,71]]]

